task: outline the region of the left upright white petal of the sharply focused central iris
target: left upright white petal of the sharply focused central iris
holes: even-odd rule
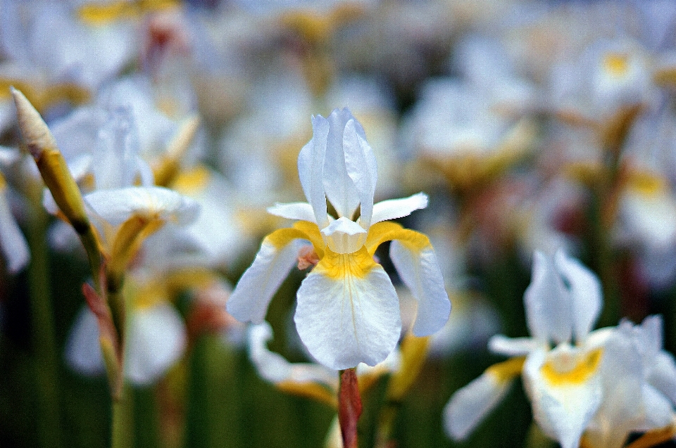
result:
[[[303,192],[312,206],[315,222],[323,229],[329,224],[324,192],[324,165],[329,122],[321,115],[312,117],[312,140],[306,143],[298,155],[298,175]]]

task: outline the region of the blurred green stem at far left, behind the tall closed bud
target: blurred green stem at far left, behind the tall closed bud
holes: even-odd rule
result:
[[[42,188],[36,188],[42,193]],[[39,418],[37,430],[40,444],[44,447],[63,446],[63,434],[58,395],[59,364],[56,339],[54,337],[54,310],[49,287],[49,252],[46,243],[46,229],[49,219],[40,204],[40,195],[32,198],[30,224],[27,239],[30,245],[31,261],[28,267],[28,283],[31,296],[32,345],[35,350],[35,379]]]

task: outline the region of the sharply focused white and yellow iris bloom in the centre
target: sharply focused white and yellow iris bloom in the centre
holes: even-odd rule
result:
[[[361,124],[347,109],[313,117],[312,124],[313,138],[298,158],[308,203],[268,209],[298,222],[265,237],[227,310],[240,321],[261,323],[273,294],[298,261],[303,240],[309,241],[318,262],[297,294],[301,340],[330,369],[360,362],[375,366],[394,350],[401,333],[399,299],[373,259],[381,243],[392,241],[392,262],[418,300],[413,333],[430,335],[449,317],[451,302],[429,239],[386,222],[427,206],[427,196],[418,193],[374,205],[377,169]],[[328,214],[327,200],[337,217]]]

